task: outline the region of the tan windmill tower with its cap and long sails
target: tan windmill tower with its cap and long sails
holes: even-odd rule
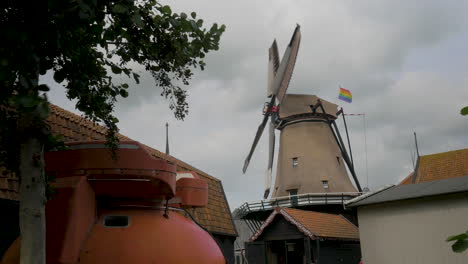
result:
[[[263,120],[245,159],[243,172],[246,172],[263,130],[270,121],[265,199],[270,194],[275,129],[280,130],[280,140],[272,198],[304,193],[356,192],[346,166],[357,189],[361,191],[352,158],[347,154],[335,124],[343,111],[338,111],[337,105],[315,95],[286,94],[300,40],[300,26],[297,25],[281,62],[276,40],[269,49],[267,97],[270,101],[265,103]]]

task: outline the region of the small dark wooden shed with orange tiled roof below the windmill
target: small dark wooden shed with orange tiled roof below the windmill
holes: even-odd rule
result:
[[[359,231],[345,217],[276,208],[246,243],[249,263],[351,263],[360,260]]]

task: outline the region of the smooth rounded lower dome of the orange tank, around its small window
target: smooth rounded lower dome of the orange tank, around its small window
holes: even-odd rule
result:
[[[225,263],[210,235],[181,214],[163,210],[103,211],[81,253],[80,263]],[[127,227],[107,227],[105,218],[128,216]]]

